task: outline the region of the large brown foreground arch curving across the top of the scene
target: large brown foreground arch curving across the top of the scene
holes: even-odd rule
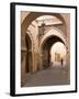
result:
[[[25,37],[25,33],[27,31],[27,28],[30,26],[30,24],[37,18],[42,16],[42,15],[53,15],[53,16],[56,16],[57,19],[59,19],[61,22],[63,22],[63,29],[65,31],[64,35],[66,35],[66,22],[65,22],[65,19],[63,16],[63,14],[60,13],[46,13],[46,12],[29,12],[26,14],[26,16],[24,16],[23,21],[22,21],[22,24],[21,24],[21,43],[23,44],[23,46],[25,46],[25,41],[24,41],[24,37]]]

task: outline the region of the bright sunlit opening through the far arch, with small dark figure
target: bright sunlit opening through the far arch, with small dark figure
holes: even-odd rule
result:
[[[50,66],[66,67],[66,46],[61,42],[56,42],[50,48]]]

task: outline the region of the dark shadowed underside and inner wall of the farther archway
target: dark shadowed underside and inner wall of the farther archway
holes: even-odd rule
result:
[[[47,68],[50,66],[50,48],[56,42],[64,43],[64,41],[61,38],[53,35],[53,36],[49,36],[48,38],[46,38],[45,43],[43,44],[43,47],[42,47],[43,68]]]

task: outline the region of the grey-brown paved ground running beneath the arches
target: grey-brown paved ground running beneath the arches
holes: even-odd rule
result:
[[[63,67],[49,67],[26,74],[25,87],[69,85],[69,75]]]

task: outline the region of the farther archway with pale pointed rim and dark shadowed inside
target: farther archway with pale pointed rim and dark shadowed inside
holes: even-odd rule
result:
[[[65,46],[67,46],[66,43],[66,36],[63,35],[61,31],[55,28],[52,28],[52,30],[48,31],[44,35],[44,37],[41,41],[40,44],[40,53],[41,53],[41,68],[43,69],[43,65],[45,63],[45,67],[48,67],[50,64],[50,47],[56,43],[61,42]],[[45,54],[45,55],[44,55]],[[45,59],[46,58],[46,59]]]

